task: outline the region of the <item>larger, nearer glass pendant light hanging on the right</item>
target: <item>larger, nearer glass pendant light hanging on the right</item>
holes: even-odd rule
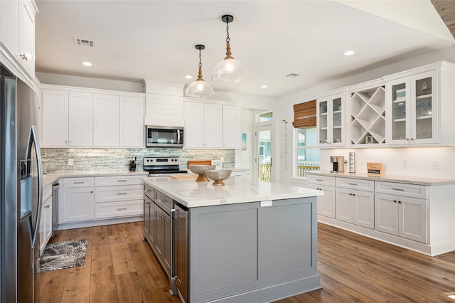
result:
[[[232,58],[230,51],[229,23],[234,20],[234,17],[224,15],[221,20],[226,23],[226,33],[228,33],[226,38],[226,57],[215,66],[212,81],[239,83],[247,80],[248,74],[245,72],[245,66],[239,60]]]

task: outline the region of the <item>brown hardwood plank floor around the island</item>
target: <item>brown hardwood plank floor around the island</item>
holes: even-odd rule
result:
[[[40,302],[180,302],[142,241],[142,223],[60,230],[51,242],[88,239],[85,265],[42,272]],[[329,225],[318,225],[323,289],[279,300],[306,302],[451,302],[455,252],[412,252]],[[245,302],[250,303],[250,302]]]

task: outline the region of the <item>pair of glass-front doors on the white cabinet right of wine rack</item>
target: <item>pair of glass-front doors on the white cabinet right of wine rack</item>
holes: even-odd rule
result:
[[[387,82],[389,144],[438,143],[437,70]]]

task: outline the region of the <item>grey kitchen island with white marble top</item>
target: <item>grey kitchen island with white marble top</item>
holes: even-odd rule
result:
[[[144,238],[182,300],[273,302],[321,288],[316,255],[321,191],[242,178],[228,179],[225,186],[168,177],[143,181],[146,194],[153,191],[155,198],[144,196]],[[182,233],[181,215],[171,216],[176,218],[168,245],[160,204],[166,199],[185,211],[187,222]]]

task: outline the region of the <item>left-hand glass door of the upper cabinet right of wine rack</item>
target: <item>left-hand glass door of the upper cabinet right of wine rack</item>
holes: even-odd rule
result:
[[[409,126],[407,117],[409,116],[409,96],[407,96],[408,83],[397,83],[392,85],[392,141],[407,140],[409,136]]]

